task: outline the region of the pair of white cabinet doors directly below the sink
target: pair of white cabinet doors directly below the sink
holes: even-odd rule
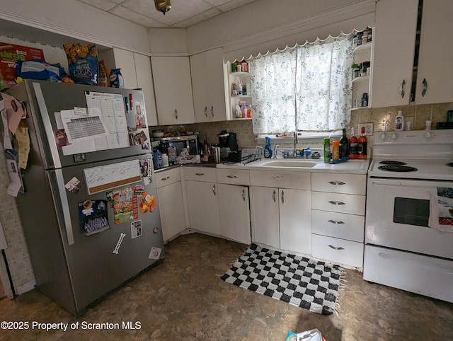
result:
[[[309,190],[253,186],[253,240],[273,248],[311,253]]]

